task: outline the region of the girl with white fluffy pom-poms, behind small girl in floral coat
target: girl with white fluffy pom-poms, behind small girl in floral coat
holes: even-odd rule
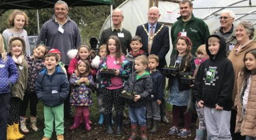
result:
[[[76,53],[76,57],[72,57],[70,53]],[[95,53],[93,53],[92,51],[90,51],[90,47],[86,46],[85,44],[82,44],[81,46],[78,47],[77,52],[68,52],[68,56],[70,56],[71,61],[68,65],[68,74],[71,75],[73,73],[78,74],[77,69],[76,69],[76,65],[77,62],[79,60],[88,60],[89,62],[92,62],[92,59],[95,58]],[[96,70],[94,68],[90,69],[91,74],[93,76],[96,75]]]

